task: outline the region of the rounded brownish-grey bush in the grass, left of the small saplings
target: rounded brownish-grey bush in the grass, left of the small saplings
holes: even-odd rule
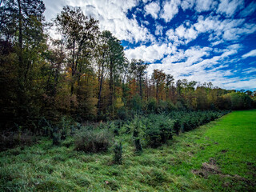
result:
[[[108,150],[113,135],[108,130],[79,130],[74,135],[75,150],[98,153]]]

